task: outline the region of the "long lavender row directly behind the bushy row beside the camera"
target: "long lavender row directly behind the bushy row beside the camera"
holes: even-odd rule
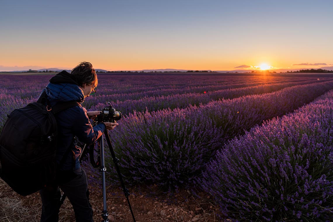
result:
[[[123,114],[133,113],[133,111],[158,111],[166,108],[185,108],[189,105],[207,104],[213,100],[219,99],[234,99],[243,95],[271,93],[277,90],[281,90],[286,87],[295,85],[305,85],[314,82],[324,82],[326,80],[310,80],[310,81],[297,81],[286,83],[273,83],[273,84],[260,84],[257,83],[254,86],[237,88],[239,85],[233,85],[232,88],[216,90],[205,93],[185,93],[185,94],[172,94],[169,96],[153,96],[137,99],[130,99],[125,101],[113,102],[112,105],[121,111]],[[230,86],[229,86],[230,87]],[[120,95],[121,99],[124,99],[123,95]],[[86,107],[91,110],[101,110],[105,101],[110,101],[113,98],[117,98],[117,95],[102,95],[91,98]],[[101,103],[102,101],[102,103]],[[91,105],[93,105],[90,107]],[[96,104],[96,105],[95,105]]]

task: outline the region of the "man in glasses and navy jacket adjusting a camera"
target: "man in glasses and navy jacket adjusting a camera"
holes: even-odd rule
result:
[[[96,93],[98,84],[95,69],[91,63],[82,62],[71,73],[62,71],[50,79],[40,99],[47,96],[51,107],[57,102],[76,101],[83,103],[85,98]],[[57,141],[57,180],[55,184],[40,190],[42,198],[41,222],[58,221],[60,191],[66,194],[73,205],[77,222],[93,221],[93,211],[89,203],[88,181],[80,167],[81,148],[74,143],[76,136],[81,142],[91,144],[102,136],[105,129],[114,129],[118,123],[103,122],[92,127],[89,118],[96,117],[99,111],[87,112],[81,106],[67,108],[55,114],[58,125]]]

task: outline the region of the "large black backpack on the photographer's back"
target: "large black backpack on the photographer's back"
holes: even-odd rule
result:
[[[0,134],[0,177],[18,194],[32,194],[55,181],[57,122],[54,114],[74,106],[81,105],[64,102],[50,108],[34,102],[8,115]]]

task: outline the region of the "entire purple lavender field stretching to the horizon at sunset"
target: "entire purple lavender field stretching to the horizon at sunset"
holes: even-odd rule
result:
[[[7,114],[36,101],[51,77],[0,75],[0,130]],[[101,110],[110,102],[124,114],[110,137],[127,184],[206,192],[220,216],[235,221],[333,216],[333,78],[98,78],[97,94],[83,106]],[[109,185],[117,185],[109,151],[106,165]],[[90,176],[90,183],[98,181]]]

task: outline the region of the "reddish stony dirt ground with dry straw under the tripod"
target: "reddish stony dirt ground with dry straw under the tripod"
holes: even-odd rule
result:
[[[156,187],[130,187],[130,204],[137,222],[145,221],[221,221],[215,214],[217,209],[205,200],[198,199],[189,190],[181,190],[172,197],[153,196]],[[0,179],[0,221],[32,221],[40,220],[41,200],[39,193],[23,197],[16,194]],[[102,221],[102,190],[90,191],[90,202],[93,206],[94,221]],[[107,188],[107,209],[110,222],[133,221],[126,197],[121,188]],[[74,211],[66,199],[59,213],[59,221],[75,221]],[[223,220],[222,220],[223,221]]]

